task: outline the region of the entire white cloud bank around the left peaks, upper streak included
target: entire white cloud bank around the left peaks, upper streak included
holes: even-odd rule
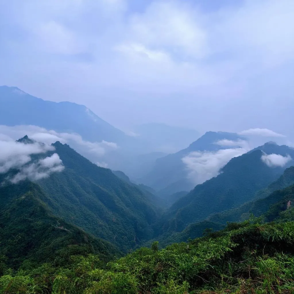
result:
[[[24,144],[15,141],[24,135],[28,135],[35,143]],[[6,173],[12,168],[18,169],[19,172],[9,179],[12,183],[18,183],[26,178],[36,181],[48,177],[51,173],[62,171],[64,167],[57,153],[38,162],[30,163],[31,155],[54,151],[54,146],[51,144],[56,141],[69,144],[78,153],[93,162],[98,160],[97,165],[105,168],[108,163],[103,161],[103,157],[107,152],[118,148],[116,143],[104,140],[101,142],[85,141],[75,133],[58,133],[32,125],[0,125],[0,173]]]

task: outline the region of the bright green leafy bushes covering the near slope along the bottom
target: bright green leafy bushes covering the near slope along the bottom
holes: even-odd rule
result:
[[[62,267],[23,263],[4,271],[0,293],[294,293],[293,215],[229,223],[162,250],[155,242],[107,264],[93,254]]]

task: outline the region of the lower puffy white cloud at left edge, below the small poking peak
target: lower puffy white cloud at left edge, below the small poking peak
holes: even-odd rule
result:
[[[37,142],[25,144],[0,140],[0,173],[16,170],[16,174],[6,178],[16,184],[25,179],[36,181],[48,177],[51,173],[61,172],[64,166],[57,153],[31,162],[32,155],[45,154],[48,151],[54,151],[54,149],[51,145]]]

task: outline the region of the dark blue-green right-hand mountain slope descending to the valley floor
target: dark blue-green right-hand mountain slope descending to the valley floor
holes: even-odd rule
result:
[[[264,147],[272,148],[279,154],[281,146],[266,144],[260,148]],[[288,147],[288,152],[293,150]],[[257,191],[275,181],[287,167],[269,167],[261,160],[263,154],[263,151],[256,149],[231,159],[217,177],[197,185],[188,195],[180,198],[163,216],[161,234],[182,231],[187,225],[204,220],[211,214],[253,200]],[[293,161],[288,165],[291,163]]]

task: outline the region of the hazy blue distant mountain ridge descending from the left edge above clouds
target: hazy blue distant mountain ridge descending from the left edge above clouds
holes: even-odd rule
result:
[[[78,133],[91,142],[122,143],[130,139],[84,105],[52,102],[17,87],[0,86],[0,125],[35,125],[58,132]]]

